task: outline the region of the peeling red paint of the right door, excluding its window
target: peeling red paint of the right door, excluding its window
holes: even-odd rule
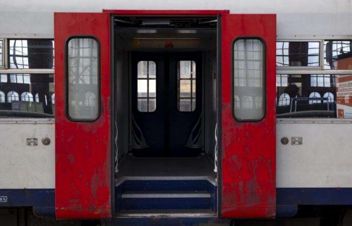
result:
[[[260,37],[267,50],[267,109],[260,122],[232,117],[231,51],[238,37]],[[276,15],[222,18],[222,217],[275,217],[276,211]]]

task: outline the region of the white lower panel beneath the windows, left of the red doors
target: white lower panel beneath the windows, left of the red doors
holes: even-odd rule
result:
[[[48,146],[41,142],[44,137],[51,140]],[[38,145],[27,146],[27,138],[37,138]],[[0,189],[3,188],[55,188],[53,121],[0,119]]]

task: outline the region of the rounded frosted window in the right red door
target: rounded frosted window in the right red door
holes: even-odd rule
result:
[[[237,121],[265,116],[265,44],[258,38],[233,43],[233,115]]]

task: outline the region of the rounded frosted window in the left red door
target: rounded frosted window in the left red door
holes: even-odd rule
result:
[[[66,42],[66,106],[72,121],[94,121],[100,110],[99,42],[72,37]]]

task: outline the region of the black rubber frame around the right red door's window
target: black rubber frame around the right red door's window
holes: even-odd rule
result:
[[[258,119],[239,119],[235,115],[235,86],[234,86],[234,47],[235,43],[238,40],[248,40],[248,39],[256,39],[259,40],[262,44],[262,114]],[[240,102],[241,102],[241,97]],[[254,103],[253,103],[254,104]],[[240,108],[236,108],[240,109]],[[259,36],[239,36],[232,40],[231,42],[231,114],[232,118],[237,122],[260,122],[265,119],[267,115],[267,43],[265,40]]]

